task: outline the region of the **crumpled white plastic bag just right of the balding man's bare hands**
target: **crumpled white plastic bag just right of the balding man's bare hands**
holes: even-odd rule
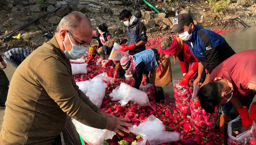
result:
[[[172,141],[179,141],[180,134],[171,131],[165,131],[165,125],[154,115],[150,115],[147,120],[139,126],[134,125],[129,130],[136,134],[141,135],[143,141],[138,142],[138,145],[145,145],[148,140],[150,145],[159,145]]]

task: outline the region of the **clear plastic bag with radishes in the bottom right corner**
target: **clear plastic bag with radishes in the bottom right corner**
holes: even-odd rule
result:
[[[253,121],[252,128],[245,131],[240,115],[228,123],[228,145],[255,145],[256,123]]]

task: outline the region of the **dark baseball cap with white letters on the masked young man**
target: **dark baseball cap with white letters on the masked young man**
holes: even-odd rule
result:
[[[173,18],[173,28],[171,33],[179,32],[186,22],[193,21],[193,18],[189,14],[179,14]]]

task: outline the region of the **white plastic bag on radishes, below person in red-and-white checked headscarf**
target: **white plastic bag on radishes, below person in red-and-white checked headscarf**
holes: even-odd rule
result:
[[[150,106],[148,96],[145,92],[133,88],[126,83],[121,83],[119,87],[113,89],[109,94],[112,101],[118,101],[122,106],[125,106],[130,100],[141,106]]]

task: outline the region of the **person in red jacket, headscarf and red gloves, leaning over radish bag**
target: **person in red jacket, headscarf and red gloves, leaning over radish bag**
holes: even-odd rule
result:
[[[198,60],[193,56],[189,46],[183,43],[181,38],[172,38],[170,36],[164,37],[161,42],[161,47],[158,49],[158,53],[164,53],[166,54],[166,57],[172,55],[174,64],[176,59],[179,59],[181,71],[183,73],[183,78],[179,82],[180,85],[187,85],[188,80],[190,80],[192,76],[197,75]]]

